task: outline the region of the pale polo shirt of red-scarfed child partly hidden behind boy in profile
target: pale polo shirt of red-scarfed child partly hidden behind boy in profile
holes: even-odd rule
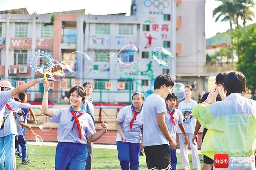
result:
[[[179,109],[174,109],[173,119],[176,125],[172,123],[171,115],[168,112],[165,113],[165,123],[173,140],[176,142],[178,125],[182,124],[182,121],[184,120],[184,116]]]

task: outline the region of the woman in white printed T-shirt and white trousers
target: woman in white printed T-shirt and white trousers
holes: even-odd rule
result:
[[[191,111],[197,105],[195,100],[192,100],[191,94],[193,92],[191,85],[185,86],[185,100],[181,101],[178,105],[178,109],[182,112],[185,117],[185,121],[183,125],[185,127],[185,131],[188,134],[189,143],[191,143],[190,148],[192,152],[192,165],[196,170],[201,169],[201,164],[197,152],[197,145],[192,144],[192,138],[195,131],[196,119],[192,116]],[[180,139],[180,157],[181,157],[181,167],[184,170],[189,170],[189,159],[188,159],[188,145],[184,144],[184,136],[180,128],[178,128],[178,135]]]

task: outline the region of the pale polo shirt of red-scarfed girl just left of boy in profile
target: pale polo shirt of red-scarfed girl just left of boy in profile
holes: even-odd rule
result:
[[[137,115],[132,124],[132,131],[130,129],[130,122],[134,115],[131,109],[131,105],[124,107],[118,113],[116,120],[122,122],[121,128],[126,142],[141,143],[142,136],[142,111]],[[121,141],[121,135],[117,132],[116,141]]]

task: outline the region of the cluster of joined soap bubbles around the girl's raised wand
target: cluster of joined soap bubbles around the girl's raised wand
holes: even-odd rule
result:
[[[83,74],[90,70],[90,57],[81,52],[75,51],[68,54],[67,58],[61,62],[53,59],[44,51],[38,50],[30,60],[30,67],[35,72],[48,74],[54,81],[61,81],[66,74]]]

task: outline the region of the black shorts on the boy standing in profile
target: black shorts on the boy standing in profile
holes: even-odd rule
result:
[[[145,146],[144,152],[149,170],[169,170],[171,168],[171,155],[167,144]]]

